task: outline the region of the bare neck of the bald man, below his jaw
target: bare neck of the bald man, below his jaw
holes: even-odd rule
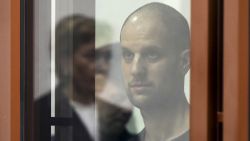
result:
[[[141,110],[146,141],[170,141],[189,129],[189,104],[186,101],[178,104],[171,108],[158,107],[154,112]]]

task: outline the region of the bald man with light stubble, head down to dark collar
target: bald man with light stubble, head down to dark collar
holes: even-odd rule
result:
[[[189,104],[184,95],[189,38],[185,18],[161,3],[139,8],[122,27],[124,82],[145,122],[143,141],[189,140]]]

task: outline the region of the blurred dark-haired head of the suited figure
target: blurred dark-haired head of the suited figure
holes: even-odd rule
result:
[[[82,95],[94,94],[95,23],[82,15],[64,18],[56,27],[56,73]]]

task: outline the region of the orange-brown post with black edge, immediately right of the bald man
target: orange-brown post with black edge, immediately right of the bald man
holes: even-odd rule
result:
[[[191,3],[191,141],[215,141],[217,125],[217,2]]]

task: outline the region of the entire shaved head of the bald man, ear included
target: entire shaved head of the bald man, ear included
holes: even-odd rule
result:
[[[185,18],[167,5],[147,4],[126,19],[120,40],[131,102],[140,108],[176,102],[177,93],[183,94],[188,69],[189,27]]]

